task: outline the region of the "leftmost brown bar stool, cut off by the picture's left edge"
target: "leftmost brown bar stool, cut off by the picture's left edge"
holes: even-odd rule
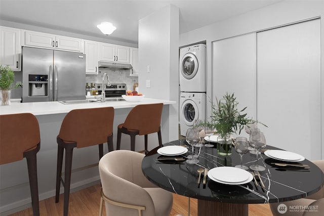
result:
[[[0,115],[0,164],[26,158],[33,215],[39,215],[36,153],[40,147],[39,125],[33,114]]]

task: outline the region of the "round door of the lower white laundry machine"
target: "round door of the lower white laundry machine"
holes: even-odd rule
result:
[[[198,107],[192,100],[186,100],[181,107],[181,117],[186,125],[192,126],[194,120],[199,118]]]

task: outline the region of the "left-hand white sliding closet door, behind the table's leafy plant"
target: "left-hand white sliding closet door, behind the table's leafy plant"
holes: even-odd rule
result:
[[[239,109],[248,107],[244,113],[255,119],[256,33],[213,42],[213,103],[226,92],[234,93]]]

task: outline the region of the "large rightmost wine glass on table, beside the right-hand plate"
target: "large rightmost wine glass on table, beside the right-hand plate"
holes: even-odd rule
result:
[[[257,161],[255,165],[251,165],[250,168],[257,171],[265,170],[265,167],[259,166],[259,150],[263,149],[266,146],[266,140],[264,134],[258,130],[254,130],[251,132],[250,136],[250,145],[257,150]],[[261,153],[260,153],[261,154]]]

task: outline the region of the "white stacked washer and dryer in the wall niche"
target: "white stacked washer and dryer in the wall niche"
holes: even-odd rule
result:
[[[180,49],[180,134],[194,120],[206,120],[206,45]]]

